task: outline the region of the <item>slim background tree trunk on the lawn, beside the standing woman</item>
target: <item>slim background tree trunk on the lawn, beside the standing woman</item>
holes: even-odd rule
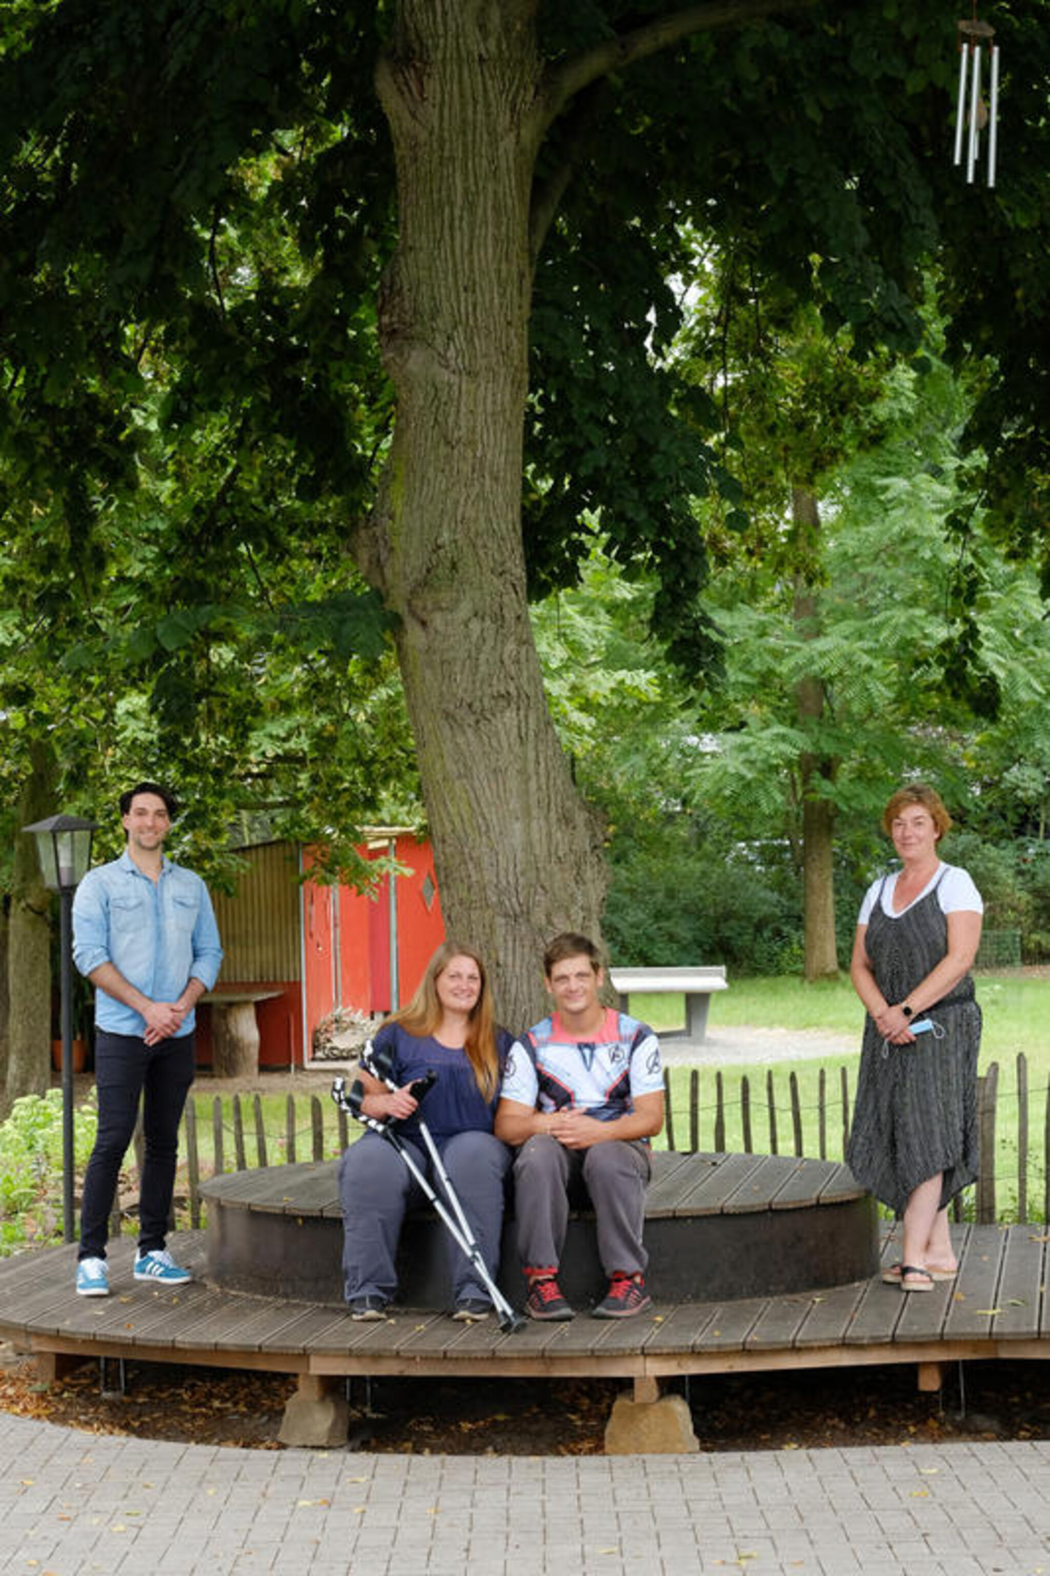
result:
[[[802,487],[791,493],[795,530],[804,548],[802,563],[815,555],[820,537],[817,498]],[[795,624],[806,640],[814,640],[820,623],[817,597],[806,571],[795,578]],[[823,679],[807,676],[795,689],[798,720],[802,728],[820,723],[825,716]],[[820,788],[831,782],[836,763],[820,750],[804,750],[799,756],[802,797],[802,905],[804,942],[802,969],[807,980],[828,979],[839,972],[836,946],[834,831],[836,807]]]

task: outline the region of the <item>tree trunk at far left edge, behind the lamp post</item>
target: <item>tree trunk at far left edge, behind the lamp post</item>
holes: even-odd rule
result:
[[[5,1103],[50,1087],[50,894],[24,826],[54,813],[55,758],[50,745],[30,749],[14,834],[8,922],[8,1076]]]

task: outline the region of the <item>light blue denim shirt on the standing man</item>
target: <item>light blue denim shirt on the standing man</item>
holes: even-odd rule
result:
[[[73,900],[73,960],[80,974],[112,963],[150,1001],[178,1001],[188,980],[211,990],[222,963],[208,889],[191,870],[164,859],[151,881],[125,849],[88,870]],[[191,1034],[188,1012],[175,1039]],[[107,1034],[145,1034],[134,1007],[95,990],[95,1023]]]

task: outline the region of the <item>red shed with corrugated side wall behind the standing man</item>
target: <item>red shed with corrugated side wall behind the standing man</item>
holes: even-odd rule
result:
[[[317,1024],[334,1007],[386,1013],[408,1001],[445,939],[434,853],[404,827],[370,829],[361,853],[393,856],[402,870],[363,895],[311,881],[311,848],[274,842],[243,849],[248,870],[236,894],[211,894],[225,955],[199,1013],[202,1065],[213,1057],[214,1012],[251,1004],[260,1065],[303,1067]]]

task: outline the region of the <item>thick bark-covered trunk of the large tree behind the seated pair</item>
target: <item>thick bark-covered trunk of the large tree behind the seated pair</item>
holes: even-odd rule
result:
[[[544,697],[525,596],[522,429],[528,214],[541,63],[522,0],[402,0],[378,90],[393,132],[399,247],[380,299],[397,421],[353,541],[400,618],[449,936],[479,947],[497,1015],[542,1007],[541,952],[598,931],[601,827]],[[517,14],[516,14],[517,11]]]

